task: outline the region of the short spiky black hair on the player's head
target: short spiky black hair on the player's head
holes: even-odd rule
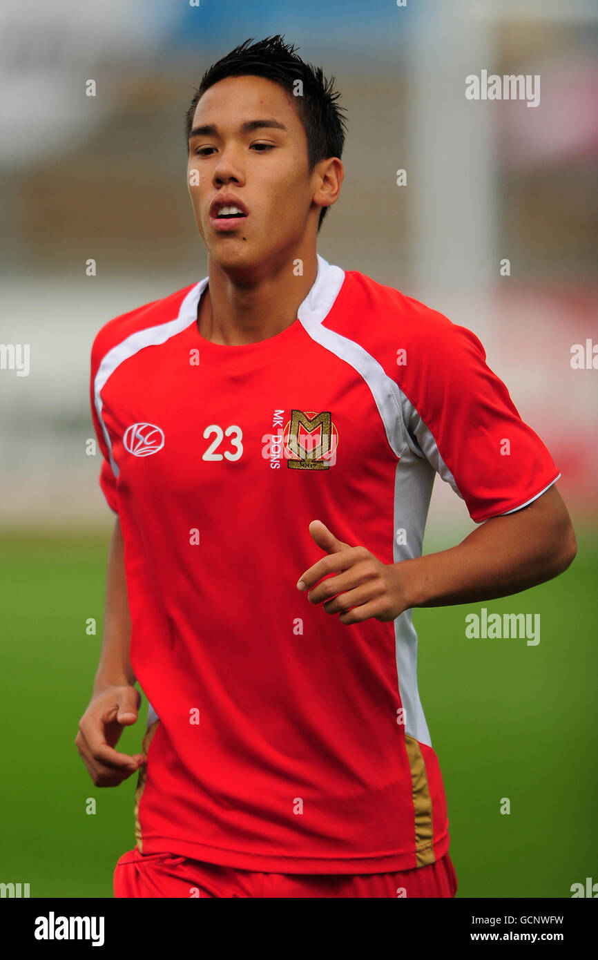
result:
[[[251,45],[250,45],[251,44]],[[285,43],[284,37],[267,36],[253,43],[253,37],[245,40],[226,57],[218,60],[203,74],[200,85],[195,91],[191,105],[185,116],[185,138],[188,141],[195,109],[208,87],[224,80],[225,77],[266,77],[280,84],[298,102],[299,117],[307,135],[307,162],[309,171],[316,163],[329,156],[343,154],[347,121],[344,107],[336,101],[340,93],[334,90],[335,78],[326,80],[322,67],[305,63],[296,54],[293,44]],[[295,93],[296,83],[300,81],[300,95]],[[318,229],[328,207],[320,211]]]

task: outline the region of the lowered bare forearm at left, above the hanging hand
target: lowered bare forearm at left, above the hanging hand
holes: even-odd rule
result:
[[[125,578],[125,550],[118,518],[108,551],[106,613],[100,662],[93,684],[98,693],[107,686],[135,683],[130,660],[131,613]]]

